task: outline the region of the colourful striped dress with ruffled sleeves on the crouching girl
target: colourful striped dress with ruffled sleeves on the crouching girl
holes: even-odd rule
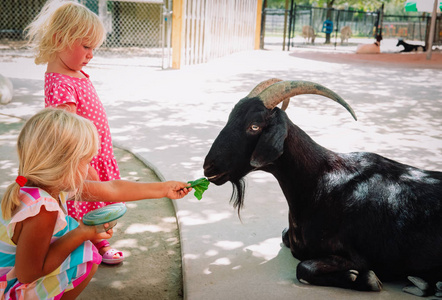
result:
[[[48,211],[57,211],[58,217],[51,241],[54,242],[78,227],[78,222],[64,212],[66,195],[65,193],[60,195],[62,209],[59,202],[45,191],[23,187],[20,189],[20,207],[11,220],[3,220],[0,214],[0,299],[59,299],[65,291],[73,289],[88,276],[93,263],[101,262],[101,256],[96,248],[90,241],[86,241],[50,274],[32,283],[18,282],[14,268],[17,247],[11,240],[15,225],[26,218],[36,216],[42,206]]]

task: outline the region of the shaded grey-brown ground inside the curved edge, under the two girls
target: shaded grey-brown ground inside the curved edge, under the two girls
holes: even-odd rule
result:
[[[15,142],[22,126],[23,120],[0,114],[0,196],[17,174]],[[115,148],[115,156],[122,178],[159,181],[129,152]],[[100,265],[78,299],[182,299],[181,246],[171,201],[144,200],[127,203],[127,207],[110,239],[111,245],[124,252],[124,262]]]

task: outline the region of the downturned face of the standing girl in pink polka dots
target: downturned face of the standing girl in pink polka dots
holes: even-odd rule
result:
[[[94,57],[94,48],[86,42],[78,39],[72,45],[72,48],[66,47],[65,50],[58,53],[63,67],[68,70],[79,72]]]

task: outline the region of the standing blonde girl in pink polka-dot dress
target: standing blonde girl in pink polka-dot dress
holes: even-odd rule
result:
[[[28,26],[28,38],[36,48],[36,64],[47,64],[45,74],[45,107],[58,107],[91,120],[100,138],[99,153],[92,159],[88,178],[109,181],[120,178],[114,157],[106,112],[89,75],[83,72],[106,36],[97,15],[85,6],[72,2],[48,1]],[[68,201],[68,213],[77,220],[103,202]],[[94,241],[103,262],[123,261],[123,252],[112,249],[106,240]]]

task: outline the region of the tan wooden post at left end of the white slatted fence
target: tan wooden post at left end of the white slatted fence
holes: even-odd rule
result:
[[[172,69],[181,67],[183,1],[174,0],[172,3]]]

